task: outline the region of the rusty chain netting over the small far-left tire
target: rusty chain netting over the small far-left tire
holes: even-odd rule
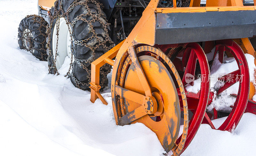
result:
[[[20,41],[22,43],[22,45],[20,45],[20,49],[25,49],[26,51],[32,53],[32,55],[34,55],[36,58],[45,61],[46,60],[45,59],[46,58],[46,47],[44,45],[46,45],[46,40],[44,39],[42,41],[38,41],[38,40],[35,40],[35,38],[40,36],[40,35],[42,35],[44,38],[47,37],[47,34],[45,33],[45,30],[44,30],[47,27],[47,22],[44,20],[43,17],[38,16],[38,15],[28,15],[26,18],[30,18],[30,17],[33,17],[32,19],[30,19],[30,20],[33,20],[33,24],[31,24],[31,25],[34,25],[35,23],[38,23],[39,24],[39,28],[38,29],[29,30],[28,24],[25,23],[23,25],[23,30],[20,30],[20,28],[18,29],[18,32],[20,34],[22,34],[22,36],[18,40],[19,43],[20,43]],[[26,31],[26,30],[28,30],[28,31]],[[32,31],[36,31],[36,30],[38,30],[40,32],[40,34],[35,36],[35,37],[33,37]],[[42,44],[42,48],[35,48],[35,46],[29,46],[27,48],[25,41],[28,41],[31,44],[32,43],[33,44],[40,43],[40,44]],[[35,50],[40,52],[41,57],[38,57],[38,56],[36,56],[34,54]],[[42,53],[42,51],[45,52],[45,53]]]

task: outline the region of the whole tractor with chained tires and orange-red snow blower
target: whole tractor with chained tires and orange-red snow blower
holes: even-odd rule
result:
[[[116,124],[145,124],[165,152],[180,155],[201,124],[233,131],[244,112],[256,114],[246,57],[256,64],[256,0],[39,0],[38,13],[21,21],[20,48],[50,74],[70,61],[65,76],[92,103],[108,104],[100,92],[113,67]],[[212,81],[230,62],[235,70]],[[224,96],[231,103],[217,107]]]

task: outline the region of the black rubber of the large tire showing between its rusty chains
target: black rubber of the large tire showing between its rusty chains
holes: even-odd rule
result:
[[[67,11],[69,6],[74,2],[74,0],[63,0],[62,9],[64,12]],[[108,25],[108,22],[106,20],[106,14],[102,11],[103,8],[97,8],[97,5],[95,4],[96,1],[90,1],[90,0],[80,0],[78,3],[87,2],[87,5],[89,9],[91,10],[91,13],[94,15],[98,14],[100,16],[100,22],[98,20],[95,20],[92,22],[93,29],[95,30],[95,33],[97,34],[97,37],[100,38],[101,41],[105,40],[106,35],[108,36],[108,33],[104,31],[104,25]],[[52,7],[51,15],[52,17],[56,17],[56,14],[62,15],[63,13],[60,11],[60,0],[56,1],[54,3],[55,7]],[[86,14],[88,11],[84,4],[79,4],[74,7],[73,10],[71,10],[68,13],[69,16],[69,22],[72,22],[77,16],[80,16],[82,14]],[[99,14],[100,13],[100,14]],[[104,16],[104,17],[101,17]],[[65,18],[68,20],[68,17],[65,16]],[[82,16],[85,20],[92,20],[91,15],[84,15]],[[54,25],[56,23],[57,18],[50,19],[52,20],[52,28],[51,28],[51,34],[54,29]],[[84,22],[82,20],[76,21],[73,27],[71,27],[71,31],[73,32],[73,38],[75,40],[85,40],[90,37],[92,37],[92,28],[87,22]],[[107,26],[107,32],[110,32],[110,27]],[[50,39],[52,42],[52,35],[50,36]],[[78,44],[74,44],[74,55],[75,55],[75,61],[72,65],[72,74],[71,74],[71,82],[80,89],[83,90],[89,90],[89,82],[91,82],[91,62],[99,58],[101,55],[106,53],[110,47],[113,47],[113,42],[111,41],[110,37],[108,37],[110,41],[107,41],[105,46],[103,47],[100,44],[100,41],[96,40],[95,37],[92,39],[83,42],[85,44],[91,45],[91,46],[99,46],[97,49],[93,51],[86,47],[81,46]],[[50,50],[52,50],[52,45],[50,44]],[[53,58],[49,57],[49,63],[52,63]],[[52,66],[52,64],[49,64]],[[84,69],[84,68],[85,69]],[[101,90],[108,86],[108,79],[107,74],[111,71],[111,66],[105,64],[103,67],[100,68],[100,86]],[[54,69],[51,69],[50,73],[55,74],[56,72]],[[78,83],[76,83],[78,82]]]

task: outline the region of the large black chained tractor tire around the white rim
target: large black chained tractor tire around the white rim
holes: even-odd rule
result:
[[[114,42],[109,37],[110,27],[106,19],[106,14],[102,11],[103,5],[95,0],[60,0],[56,1],[50,10],[50,30],[51,34],[59,16],[65,17],[69,22],[73,38],[72,73],[69,75],[71,82],[79,89],[89,90],[91,82],[91,63],[106,53],[114,46]],[[73,8],[69,9],[68,8]],[[51,23],[52,22],[52,23]],[[50,57],[48,60],[50,73],[57,72],[54,68],[54,57],[52,50],[52,35],[50,38]],[[110,73],[111,66],[105,64],[100,68],[101,90],[108,86],[107,74]]]

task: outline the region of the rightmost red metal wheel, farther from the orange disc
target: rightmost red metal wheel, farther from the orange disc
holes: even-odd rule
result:
[[[238,93],[237,95],[233,95],[236,96],[234,106],[231,112],[229,113],[227,119],[218,128],[218,130],[221,131],[231,131],[232,129],[235,129],[237,124],[239,123],[248,101],[250,86],[249,67],[247,64],[247,60],[244,56],[243,50],[233,40],[228,39],[216,41],[215,47],[216,49],[214,52],[213,60],[218,54],[220,63],[223,63],[224,54],[229,53],[232,54],[232,57],[235,58],[236,63],[238,65],[238,70],[218,78],[219,81],[224,82],[224,85],[218,88],[217,95],[219,95],[220,93],[234,85],[236,82],[239,82]],[[213,96],[214,93],[211,92],[210,95]],[[208,104],[210,104],[211,102],[212,98],[210,98]],[[205,113],[203,123],[207,123],[212,127],[212,129],[216,129],[208,115],[209,113]],[[218,112],[215,108],[213,108],[213,118],[218,118]]]

